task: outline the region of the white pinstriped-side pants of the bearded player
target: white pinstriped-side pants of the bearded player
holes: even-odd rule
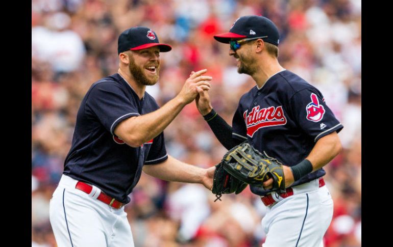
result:
[[[115,209],[92,198],[75,188],[77,182],[62,175],[50,202],[58,247],[134,247],[124,206]]]

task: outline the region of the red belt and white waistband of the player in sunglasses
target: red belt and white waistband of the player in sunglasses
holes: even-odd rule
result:
[[[293,186],[290,188],[286,188],[285,193],[270,193],[267,194],[263,197],[261,197],[261,200],[265,206],[271,206],[275,204],[276,202],[279,202],[283,200],[284,198],[293,196],[293,195],[298,195],[298,194],[303,194],[303,193],[310,193],[312,191],[318,190],[320,187],[325,185],[325,180],[321,178],[314,179],[310,182],[307,183],[302,183],[297,186]]]

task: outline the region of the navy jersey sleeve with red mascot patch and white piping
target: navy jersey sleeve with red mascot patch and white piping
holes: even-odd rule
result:
[[[299,127],[311,136],[314,142],[334,131],[338,133],[343,128],[325,103],[321,92],[315,88],[295,93],[289,102]]]

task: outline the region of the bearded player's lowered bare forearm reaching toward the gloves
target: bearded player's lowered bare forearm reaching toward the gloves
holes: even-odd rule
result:
[[[206,170],[184,163],[168,155],[168,159],[160,164],[143,166],[143,172],[153,177],[183,183],[202,183]]]

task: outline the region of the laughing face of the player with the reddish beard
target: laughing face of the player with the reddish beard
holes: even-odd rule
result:
[[[155,85],[160,71],[160,49],[150,47],[127,52],[130,59],[129,70],[135,81],[140,85]]]

